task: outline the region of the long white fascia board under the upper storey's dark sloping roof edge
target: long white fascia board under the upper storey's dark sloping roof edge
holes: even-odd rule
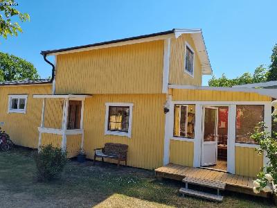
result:
[[[115,42],[115,43],[110,43],[110,44],[103,44],[100,46],[91,46],[87,48],[82,48],[82,49],[73,49],[69,51],[61,51],[61,52],[55,52],[55,53],[48,53],[48,55],[61,55],[61,54],[66,54],[66,53],[77,53],[77,52],[82,52],[82,51],[91,51],[91,50],[96,50],[96,49],[107,49],[111,47],[116,47],[116,46],[125,46],[129,44],[138,44],[142,42],[151,42],[155,40],[164,40],[170,37],[174,37],[174,34],[168,34],[168,35],[157,35],[154,37],[142,37],[141,39],[138,40],[127,40],[123,42]]]

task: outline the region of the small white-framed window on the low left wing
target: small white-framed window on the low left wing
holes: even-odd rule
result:
[[[27,106],[27,98],[26,94],[17,94],[17,95],[9,95],[8,98],[8,113],[26,113]]]

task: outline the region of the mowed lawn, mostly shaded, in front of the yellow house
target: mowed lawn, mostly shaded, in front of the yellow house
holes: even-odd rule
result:
[[[0,207],[275,207],[271,200],[226,192],[224,202],[181,197],[181,182],[154,171],[69,161],[60,180],[37,182],[33,150],[0,152]]]

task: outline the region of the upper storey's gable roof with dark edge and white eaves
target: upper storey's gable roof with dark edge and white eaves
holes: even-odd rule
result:
[[[41,51],[42,55],[59,55],[64,53],[75,53],[80,51],[89,51],[93,49],[109,48],[113,46],[122,46],[126,44],[134,44],[139,42],[150,42],[153,40],[164,40],[167,38],[178,38],[182,34],[191,34],[193,41],[195,42],[195,47],[197,54],[199,55],[199,60],[202,65],[202,73],[210,75],[212,73],[211,63],[208,58],[208,52],[206,50],[206,45],[204,42],[204,37],[202,35],[201,29],[176,29],[173,28],[170,31],[163,31],[159,33],[152,33],[148,35],[139,35],[134,37],[127,37],[118,40],[111,40],[107,42],[98,42],[94,44],[87,44],[82,46],[74,46],[64,49],[54,49],[48,51]]]

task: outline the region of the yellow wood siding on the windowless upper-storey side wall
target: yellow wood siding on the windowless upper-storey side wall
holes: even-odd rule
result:
[[[163,40],[57,55],[56,94],[161,93]]]

